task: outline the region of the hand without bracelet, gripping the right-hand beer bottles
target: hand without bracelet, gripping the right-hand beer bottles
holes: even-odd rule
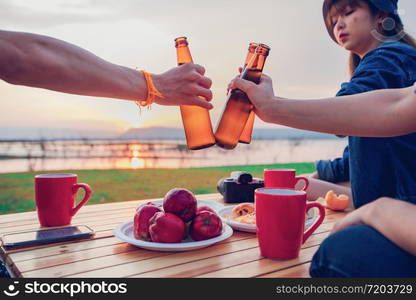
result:
[[[265,122],[271,122],[270,112],[272,112],[272,109],[270,106],[278,101],[275,99],[273,82],[269,76],[263,74],[259,84],[236,77],[228,87],[229,89],[238,88],[245,92],[254,105],[254,110],[259,118]]]

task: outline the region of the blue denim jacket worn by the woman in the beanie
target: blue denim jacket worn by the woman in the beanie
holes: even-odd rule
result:
[[[386,42],[363,57],[337,96],[404,88],[415,81],[416,49],[402,42]],[[416,133],[393,138],[349,137],[348,144],[342,158],[317,162],[319,178],[330,182],[349,179],[356,207],[382,196],[416,203]]]

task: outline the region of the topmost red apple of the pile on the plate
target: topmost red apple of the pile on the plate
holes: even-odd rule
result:
[[[163,199],[163,209],[177,215],[185,223],[192,220],[196,213],[196,198],[187,189],[172,189]]]

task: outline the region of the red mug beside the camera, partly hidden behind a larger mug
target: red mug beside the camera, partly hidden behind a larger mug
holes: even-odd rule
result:
[[[306,191],[309,180],[302,176],[296,177],[295,169],[264,169],[264,187],[267,188],[294,189],[300,180],[305,182],[302,191]]]

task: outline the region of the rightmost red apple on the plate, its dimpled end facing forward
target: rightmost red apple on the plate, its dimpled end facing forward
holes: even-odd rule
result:
[[[217,214],[210,211],[200,212],[191,223],[189,234],[195,241],[202,241],[219,236],[222,232],[222,221]]]

